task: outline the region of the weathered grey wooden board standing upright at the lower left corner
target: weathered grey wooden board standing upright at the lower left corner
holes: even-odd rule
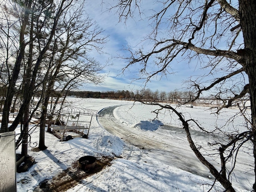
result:
[[[16,192],[15,132],[0,135],[0,191]]]

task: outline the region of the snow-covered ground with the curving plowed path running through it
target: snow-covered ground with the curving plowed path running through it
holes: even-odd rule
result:
[[[28,172],[17,173],[18,192],[32,192],[41,182],[51,182],[54,176],[70,168],[85,155],[95,156],[98,160],[108,156],[113,160],[110,166],[84,178],[67,189],[67,192],[198,192],[211,188],[209,184],[214,181],[211,174],[194,157],[186,141],[186,135],[180,128],[180,122],[172,114],[160,114],[158,121],[152,121],[155,115],[151,111],[156,109],[153,106],[124,100],[69,98],[69,101],[72,102],[72,106],[99,111],[115,106],[113,114],[115,123],[119,126],[112,131],[117,135],[123,132],[123,135],[118,137],[110,134],[107,128],[104,128],[103,119],[98,117],[92,119],[88,139],[74,138],[59,142],[58,138],[46,132],[45,143],[48,148],[36,152],[32,147],[34,142],[38,143],[39,130],[35,129],[31,134],[28,154],[35,159],[36,164]],[[226,119],[237,112],[236,109],[226,110],[216,120],[216,116],[210,114],[206,107],[184,106],[179,110],[187,117],[191,116],[203,122],[204,127],[209,130],[216,125],[224,126]],[[108,119],[106,116],[105,118]],[[170,125],[170,128],[163,128],[160,126],[162,124]],[[242,128],[243,124],[243,118],[238,116],[225,128],[231,129],[233,125]],[[202,135],[198,132],[195,134],[198,142],[205,142]],[[20,148],[17,153],[20,153]],[[249,156],[238,159],[240,170],[233,179],[237,191],[251,190],[254,175],[247,172],[250,164],[253,165],[253,161]],[[247,173],[244,174],[245,172]],[[213,191],[223,191],[219,187],[217,184]]]

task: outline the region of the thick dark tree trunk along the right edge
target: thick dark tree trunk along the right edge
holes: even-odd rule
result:
[[[239,0],[240,24],[244,37],[245,71],[249,79],[251,105],[251,136],[254,154],[254,176],[256,176],[256,1]],[[256,177],[253,184],[256,191]]]

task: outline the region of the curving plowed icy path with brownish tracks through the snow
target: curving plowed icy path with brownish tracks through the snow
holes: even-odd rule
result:
[[[209,170],[199,162],[189,148],[182,128],[161,126],[154,132],[138,131],[122,124],[114,117],[116,107],[118,106],[105,108],[100,112],[103,117],[98,117],[99,124],[108,132],[145,150],[148,156],[157,157],[157,162],[176,166],[203,177],[210,175]]]

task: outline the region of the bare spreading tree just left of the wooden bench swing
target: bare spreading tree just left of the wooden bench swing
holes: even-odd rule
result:
[[[82,85],[82,82],[98,84],[103,76],[99,72],[104,68],[88,53],[92,48],[101,52],[106,36],[101,36],[99,28],[87,14],[84,13],[84,4],[73,6],[65,12],[57,25],[57,32],[49,50],[51,60],[49,72],[43,83],[44,101],[40,117],[39,148],[44,150],[44,129],[50,95],[54,90],[60,90],[57,84],[63,84],[64,91],[70,84]],[[54,87],[55,85],[55,87]],[[62,87],[63,87],[62,86]],[[72,87],[71,87],[72,88]]]

